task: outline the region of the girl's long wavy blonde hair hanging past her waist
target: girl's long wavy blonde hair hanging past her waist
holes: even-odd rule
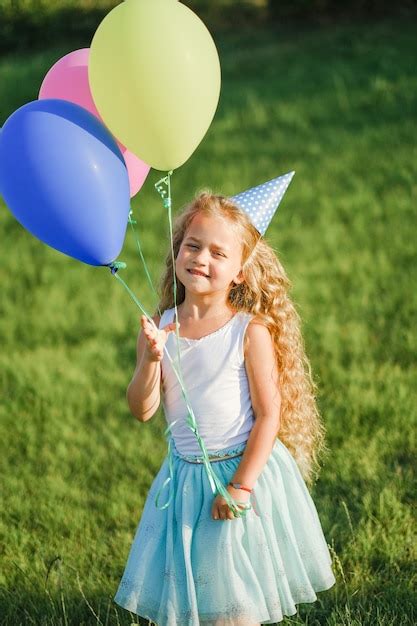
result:
[[[316,384],[305,353],[301,320],[290,300],[291,283],[274,250],[252,225],[246,213],[220,195],[204,191],[178,214],[173,224],[174,258],[192,219],[197,213],[223,218],[243,244],[244,280],[232,286],[228,302],[234,310],[247,311],[269,329],[274,341],[281,394],[280,426],[277,437],[294,457],[304,480],[311,484],[319,475],[319,457],[328,452],[325,429],[316,405]],[[159,284],[159,308],[173,308],[174,267],[171,249]],[[184,285],[177,280],[177,305],[185,298]]]

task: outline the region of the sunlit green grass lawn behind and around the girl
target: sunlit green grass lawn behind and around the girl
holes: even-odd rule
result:
[[[293,283],[331,450],[312,495],[337,585],[282,623],[415,624],[415,25],[213,35],[221,102],[174,173],[174,211],[198,188],[233,194],[296,170],[268,239]],[[80,43],[0,60],[1,124]],[[160,175],[134,200],[155,282]],[[127,626],[137,620],[112,597],[166,450],[163,415],[139,424],[125,401],[140,311],[108,270],[47,248],[3,205],[0,228],[0,621]],[[154,310],[129,231],[120,259]]]

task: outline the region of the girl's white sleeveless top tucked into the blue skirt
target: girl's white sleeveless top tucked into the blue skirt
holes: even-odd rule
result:
[[[175,309],[163,312],[159,328],[174,321]],[[247,441],[254,413],[246,375],[243,342],[253,315],[236,313],[224,326],[200,339],[179,338],[181,371],[199,434],[208,452]],[[169,333],[167,351],[177,367],[175,331]],[[178,368],[177,368],[178,369]],[[172,365],[164,352],[161,361],[162,406],[172,437],[181,454],[201,455],[197,437],[186,424],[187,408]]]

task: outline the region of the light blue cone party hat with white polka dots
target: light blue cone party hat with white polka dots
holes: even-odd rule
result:
[[[294,174],[288,172],[230,198],[239,209],[245,211],[261,235],[265,234]]]

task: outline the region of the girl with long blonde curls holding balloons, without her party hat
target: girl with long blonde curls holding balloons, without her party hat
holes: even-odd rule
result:
[[[141,318],[127,392],[131,412],[146,422],[162,390],[170,454],[115,596],[158,626],[273,624],[335,583],[304,482],[317,474],[324,427],[289,287],[273,250],[230,199],[202,193],[177,217],[163,313],[153,323]],[[208,465],[230,498],[213,494],[184,419],[176,358]],[[167,491],[171,501],[157,506]]]

